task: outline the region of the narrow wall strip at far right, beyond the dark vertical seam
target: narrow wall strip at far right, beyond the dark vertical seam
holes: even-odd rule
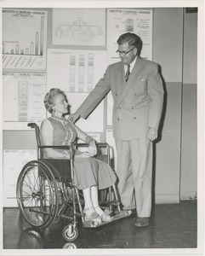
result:
[[[185,13],[184,39],[180,197],[186,200],[197,191],[197,13]]]

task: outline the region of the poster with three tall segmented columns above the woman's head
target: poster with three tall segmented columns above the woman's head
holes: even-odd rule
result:
[[[104,50],[48,49],[47,89],[59,87],[69,92],[90,92],[105,68]]]

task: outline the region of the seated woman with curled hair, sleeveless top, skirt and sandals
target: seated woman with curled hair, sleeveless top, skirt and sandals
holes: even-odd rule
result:
[[[111,221],[111,216],[106,214],[99,206],[98,189],[105,189],[116,182],[116,175],[105,162],[96,160],[97,154],[95,141],[76,125],[65,119],[68,114],[68,101],[64,91],[53,88],[44,97],[45,108],[51,113],[41,125],[43,145],[70,145],[77,137],[88,143],[88,152],[75,149],[74,156],[74,181],[77,189],[83,190],[85,220]],[[69,159],[68,150],[45,148],[45,158]]]

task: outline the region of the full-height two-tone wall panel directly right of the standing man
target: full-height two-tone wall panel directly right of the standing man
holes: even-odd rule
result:
[[[183,9],[154,9],[153,61],[162,68],[164,108],[156,144],[156,203],[179,202]]]

